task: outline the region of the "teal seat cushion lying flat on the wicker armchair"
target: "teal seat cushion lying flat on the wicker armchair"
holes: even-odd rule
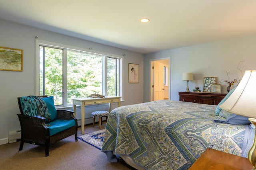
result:
[[[76,121],[74,119],[72,120],[57,119],[55,121],[51,121],[46,124],[46,126],[48,126],[49,128],[50,136],[55,135],[56,133],[64,131],[75,125],[76,125]]]

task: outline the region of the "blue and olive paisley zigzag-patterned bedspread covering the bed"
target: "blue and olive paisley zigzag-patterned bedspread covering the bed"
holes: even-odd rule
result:
[[[118,107],[108,116],[102,152],[139,170],[186,170],[207,148],[247,157],[255,130],[218,121],[216,110],[170,100]]]

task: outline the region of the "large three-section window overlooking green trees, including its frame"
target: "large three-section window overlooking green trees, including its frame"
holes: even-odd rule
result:
[[[93,93],[121,94],[122,57],[89,53],[49,42],[38,42],[37,45],[37,95],[54,96],[55,105],[69,106],[72,98],[87,97]]]

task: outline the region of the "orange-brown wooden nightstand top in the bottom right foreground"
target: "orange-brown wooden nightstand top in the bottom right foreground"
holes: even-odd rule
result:
[[[206,149],[189,170],[251,170],[252,164],[247,158]]]

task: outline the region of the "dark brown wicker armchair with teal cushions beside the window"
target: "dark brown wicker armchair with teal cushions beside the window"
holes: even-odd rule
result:
[[[26,97],[30,97],[30,96],[26,96]],[[40,99],[44,99],[47,96],[34,96],[34,97],[40,97]],[[24,143],[30,143],[30,144],[34,144],[34,145],[44,146],[45,147],[45,156],[49,156],[49,145],[52,145],[53,143],[56,143],[56,142],[66,138],[66,137],[69,137],[71,135],[75,135],[75,141],[78,141],[78,139],[77,139],[78,124],[77,124],[76,117],[74,117],[74,115],[73,115],[74,111],[56,110],[54,107],[54,104],[53,104],[53,106],[51,106],[51,107],[52,107],[52,109],[55,109],[56,113],[57,113],[55,120],[51,120],[49,118],[49,120],[46,121],[46,119],[47,119],[46,117],[30,115],[28,113],[28,112],[30,112],[30,110],[28,111],[28,110],[24,109],[24,102],[21,103],[21,101],[20,101],[21,98],[22,97],[18,98],[18,105],[19,105],[21,114],[17,114],[19,121],[20,121],[20,127],[21,127],[21,141],[20,141],[19,150],[23,149]],[[53,100],[53,97],[52,97],[52,100]],[[28,106],[28,107],[30,107],[30,106]],[[47,103],[46,103],[46,107],[49,107]],[[49,112],[50,112],[50,107],[49,107]],[[30,112],[30,113],[32,113],[32,112]],[[50,113],[50,114],[52,114],[52,113]],[[74,122],[72,121],[72,125],[69,125],[69,126],[63,125],[64,128],[68,128],[68,129],[60,131],[58,133],[55,132],[56,134],[51,135],[51,133],[53,133],[52,132],[53,130],[51,128],[54,128],[54,126],[55,126],[54,123],[55,124],[56,124],[56,122],[62,123],[64,121],[70,122],[69,120],[74,120]],[[72,127],[70,127],[70,126],[72,126]]]

